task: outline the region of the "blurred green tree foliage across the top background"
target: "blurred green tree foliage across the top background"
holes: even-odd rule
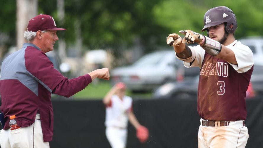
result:
[[[237,39],[262,35],[263,3],[256,0],[65,0],[64,24],[58,21],[57,1],[38,0],[38,12],[52,15],[59,27],[67,28],[63,33],[67,44],[76,41],[76,26],[80,26],[88,49],[127,48],[139,38],[147,51],[166,47],[165,37],[170,33],[200,32],[205,12],[222,5],[237,16]],[[15,1],[1,1],[0,12],[0,33],[15,44]]]

